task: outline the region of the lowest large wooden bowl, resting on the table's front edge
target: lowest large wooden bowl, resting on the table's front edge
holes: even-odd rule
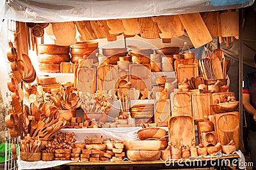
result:
[[[153,161],[158,160],[161,156],[161,151],[152,150],[127,150],[126,155],[132,161]]]

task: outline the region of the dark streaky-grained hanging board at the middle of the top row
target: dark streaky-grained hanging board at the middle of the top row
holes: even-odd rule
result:
[[[138,22],[140,23],[140,36],[142,38],[155,39],[159,38],[159,30],[157,23],[152,20],[151,17],[138,18]]]

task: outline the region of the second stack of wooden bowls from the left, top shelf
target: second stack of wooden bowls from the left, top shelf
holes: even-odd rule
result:
[[[79,41],[70,46],[71,62],[78,63],[79,59],[93,59],[95,62],[96,53],[99,53],[97,41]]]

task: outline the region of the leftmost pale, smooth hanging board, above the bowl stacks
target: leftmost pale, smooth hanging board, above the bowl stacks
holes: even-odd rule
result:
[[[52,31],[56,37],[55,45],[70,46],[76,43],[76,27],[73,22],[54,22]]]

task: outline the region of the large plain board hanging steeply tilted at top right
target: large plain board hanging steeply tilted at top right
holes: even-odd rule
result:
[[[179,15],[179,18],[195,48],[212,41],[212,36],[200,13],[182,14]]]

